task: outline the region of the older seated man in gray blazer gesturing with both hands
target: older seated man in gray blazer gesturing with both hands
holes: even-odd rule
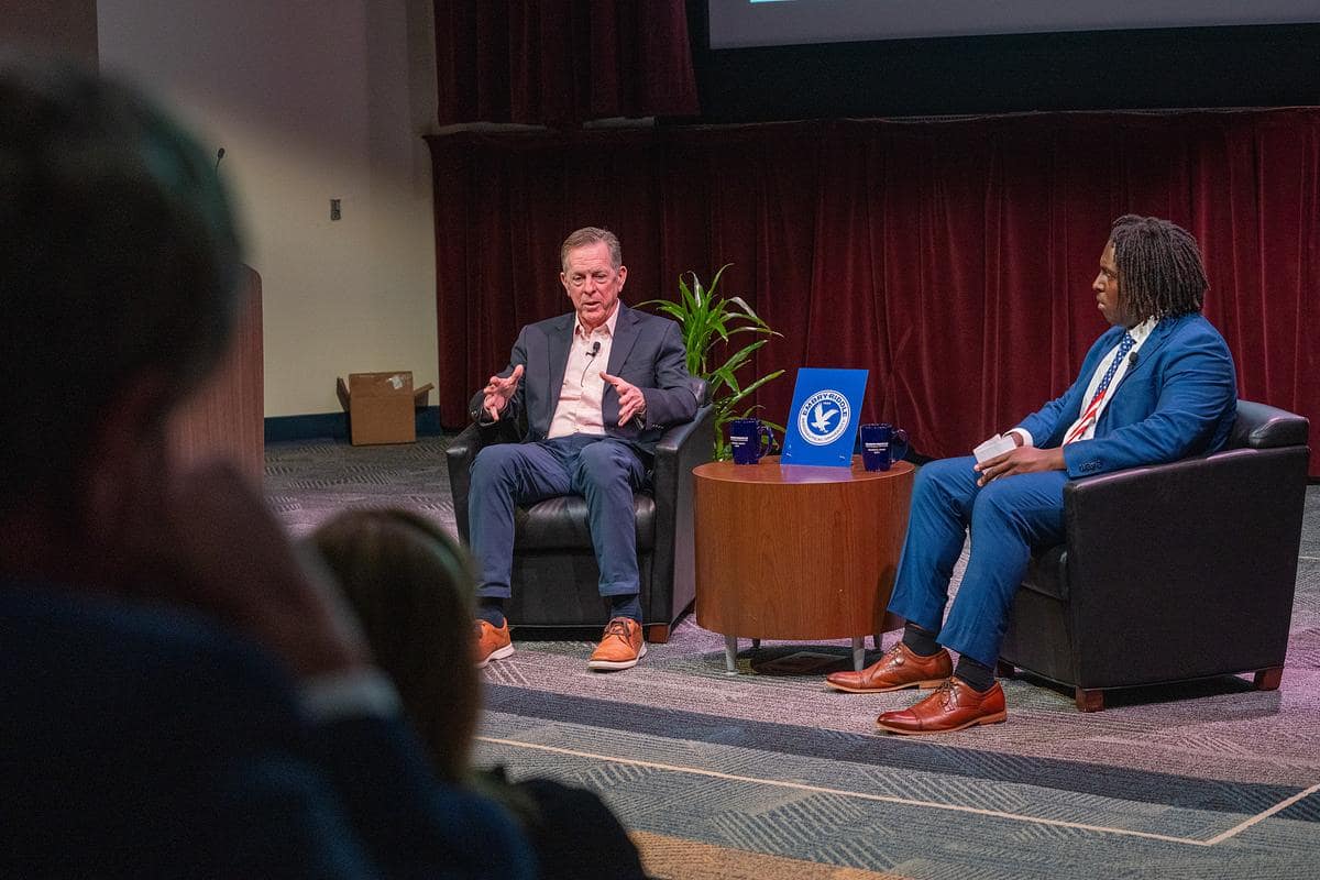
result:
[[[697,400],[678,325],[619,301],[628,269],[612,232],[586,227],[560,248],[574,311],[523,327],[508,365],[473,397],[479,424],[525,417],[520,443],[486,446],[473,463],[469,517],[478,586],[478,665],[513,653],[513,507],[581,495],[610,621],[587,666],[628,669],[645,654],[632,492],[656,441],[692,420]]]

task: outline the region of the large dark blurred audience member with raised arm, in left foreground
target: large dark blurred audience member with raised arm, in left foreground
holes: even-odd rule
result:
[[[0,61],[0,876],[532,877],[259,496],[170,453],[238,277],[174,121]]]

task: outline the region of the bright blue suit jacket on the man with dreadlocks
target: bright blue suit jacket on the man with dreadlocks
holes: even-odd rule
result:
[[[1022,420],[1019,427],[1031,431],[1036,446],[1063,443],[1064,433],[1081,413],[1092,376],[1123,332],[1122,327],[1110,327],[1102,334],[1072,388]],[[1237,412],[1237,373],[1220,331],[1200,314],[1189,314],[1155,325],[1137,365],[1109,393],[1094,438],[1064,446],[1069,476],[1172,462],[1221,449]]]

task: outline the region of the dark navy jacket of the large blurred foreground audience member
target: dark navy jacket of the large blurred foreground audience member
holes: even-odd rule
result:
[[[532,876],[397,718],[313,723],[198,617],[0,579],[0,876]]]

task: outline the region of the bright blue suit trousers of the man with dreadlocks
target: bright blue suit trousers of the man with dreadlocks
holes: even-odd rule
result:
[[[946,458],[917,471],[890,611],[940,633],[941,645],[994,666],[1031,549],[1063,541],[1068,475],[1018,474],[978,487],[973,464],[970,455]],[[944,620],[949,578],[969,530],[968,567]]]

